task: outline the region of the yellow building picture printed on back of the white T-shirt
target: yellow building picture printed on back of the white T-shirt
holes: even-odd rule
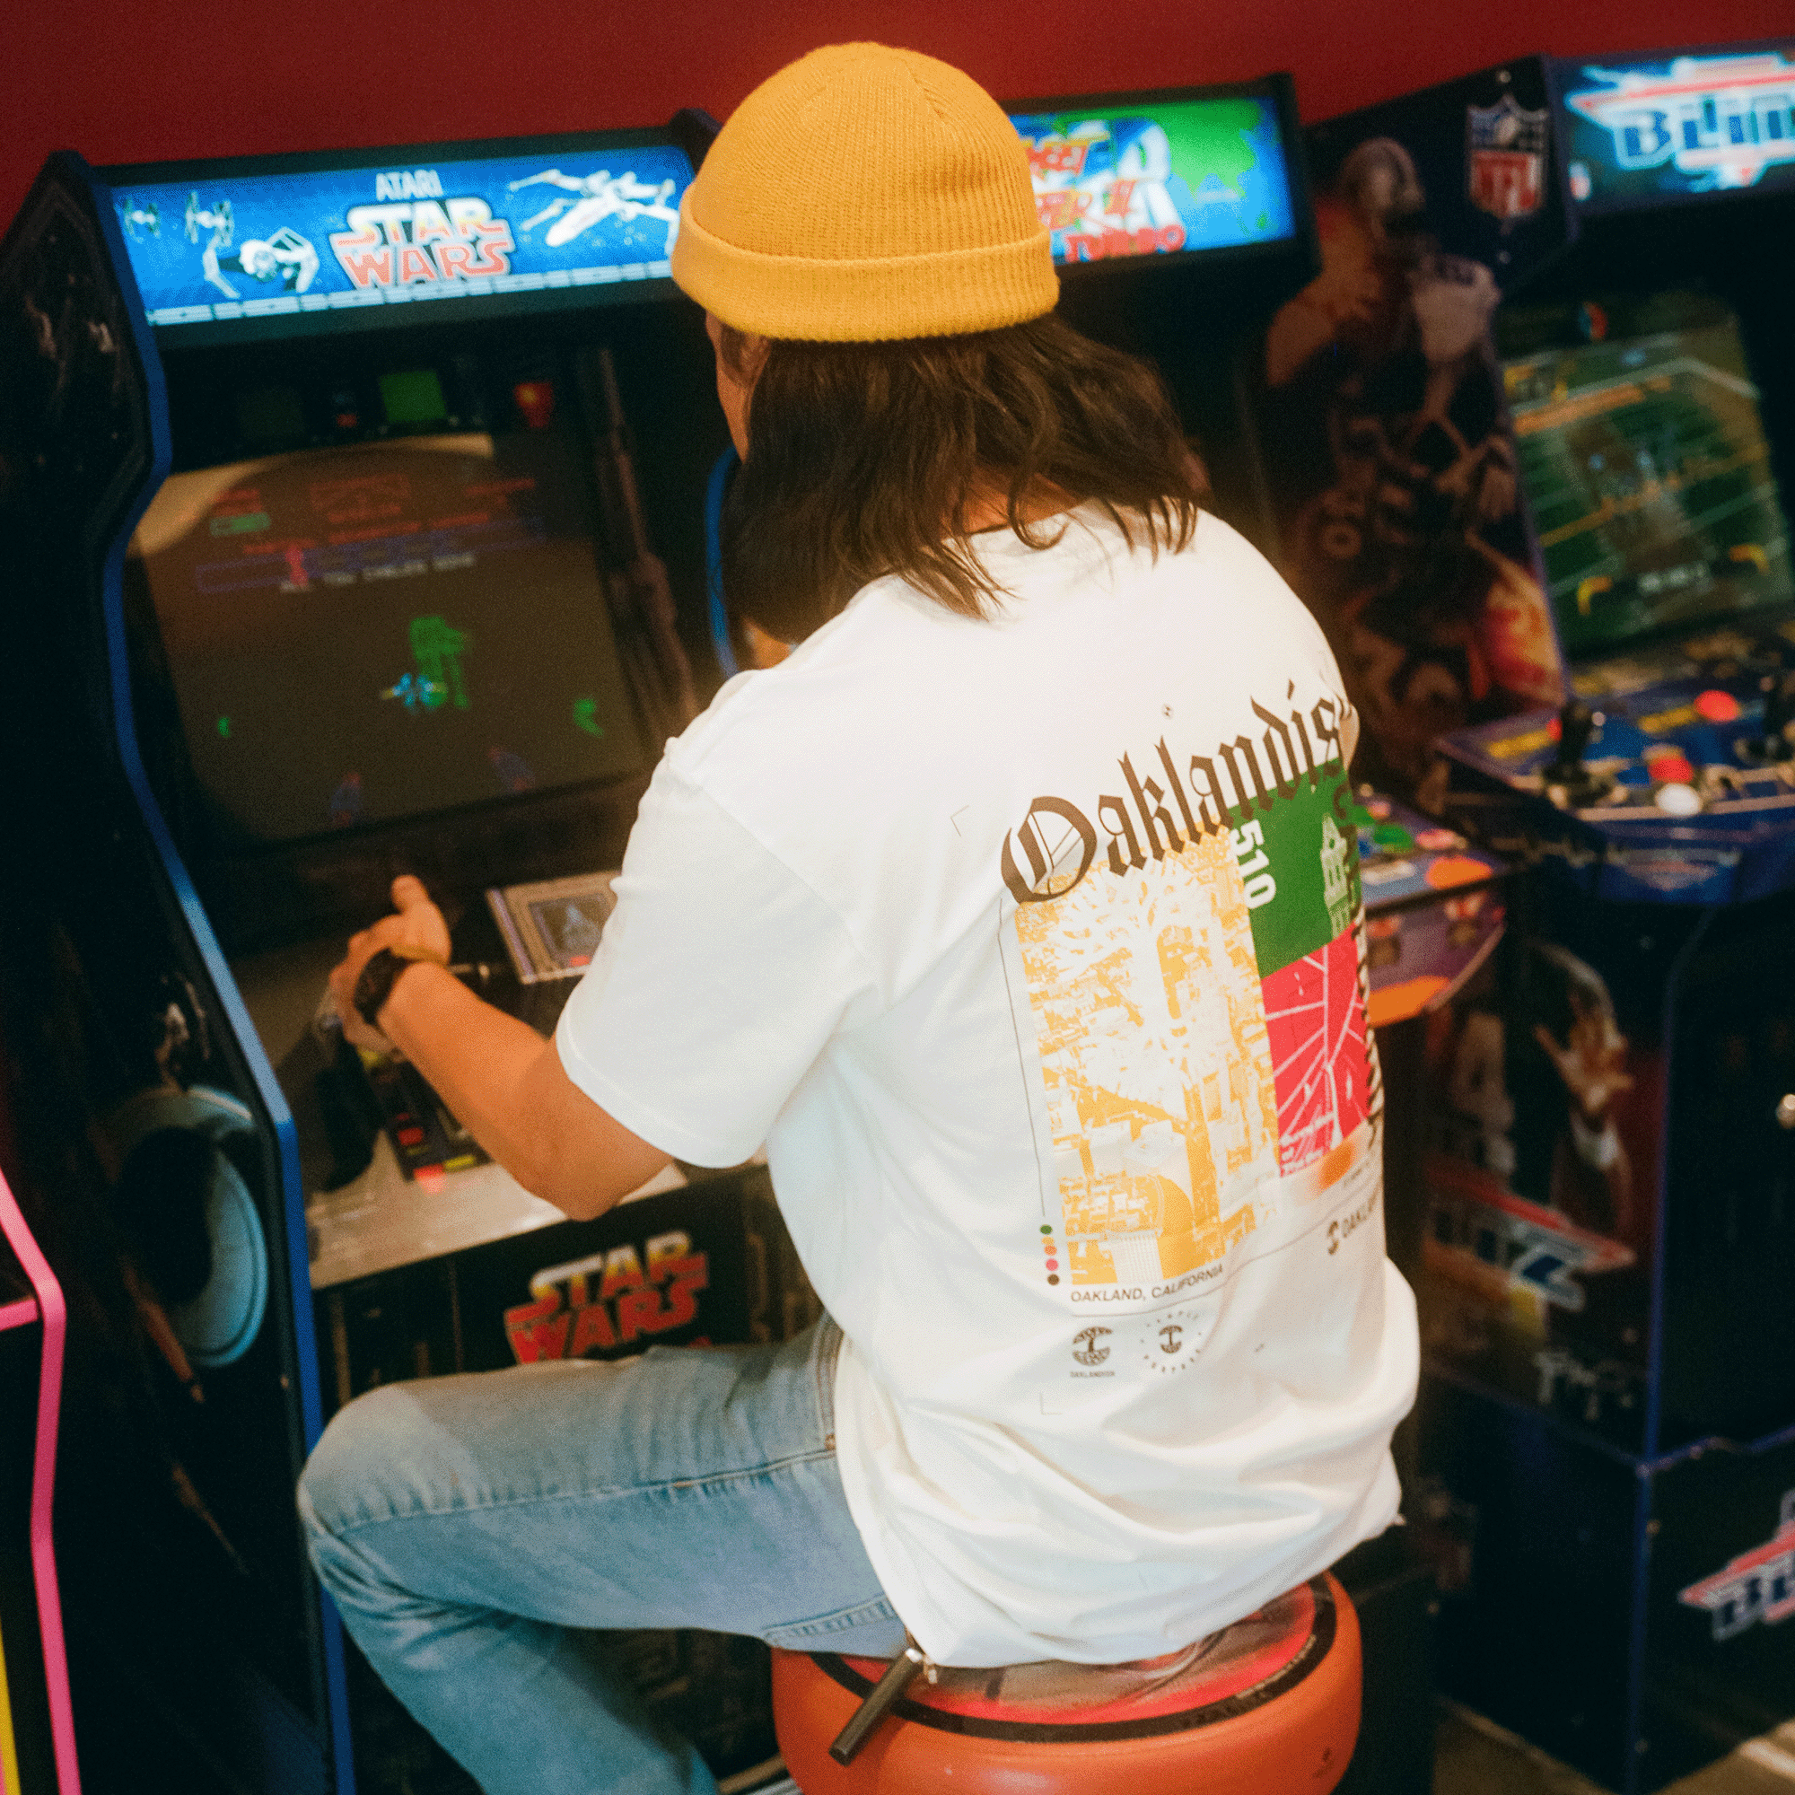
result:
[[[1221,1258],[1278,1185],[1278,1097],[1228,833],[1021,905],[1072,1283]]]

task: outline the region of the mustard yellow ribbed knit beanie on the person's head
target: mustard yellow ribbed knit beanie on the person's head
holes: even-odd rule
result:
[[[763,81],[679,215],[673,278],[756,336],[959,336],[1059,298],[1016,127],[976,81],[914,50],[842,43]]]

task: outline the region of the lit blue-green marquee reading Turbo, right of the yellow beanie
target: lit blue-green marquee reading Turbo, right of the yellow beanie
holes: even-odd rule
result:
[[[1296,235],[1271,95],[1025,102],[1034,201],[1055,262],[1242,250]]]

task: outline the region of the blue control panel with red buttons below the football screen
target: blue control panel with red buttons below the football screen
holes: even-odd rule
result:
[[[1795,883],[1795,626],[1578,670],[1562,711],[1441,741],[1454,811],[1592,896],[1729,903]]]

